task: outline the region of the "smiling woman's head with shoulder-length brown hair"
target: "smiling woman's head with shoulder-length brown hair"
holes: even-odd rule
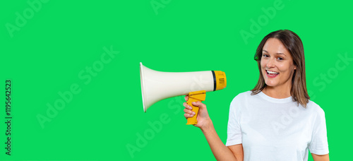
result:
[[[268,88],[276,87],[281,89],[277,91],[290,91],[276,92],[277,97],[292,95],[293,101],[306,107],[310,97],[306,90],[304,47],[297,34],[290,30],[278,30],[266,35],[256,49],[255,60],[258,61],[260,76],[256,87],[251,90],[252,95],[261,91],[266,93]]]

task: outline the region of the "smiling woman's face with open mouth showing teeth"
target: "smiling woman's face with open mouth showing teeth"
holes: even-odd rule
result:
[[[261,57],[261,72],[266,85],[290,87],[296,68],[291,54],[280,40],[270,38],[265,42]]]

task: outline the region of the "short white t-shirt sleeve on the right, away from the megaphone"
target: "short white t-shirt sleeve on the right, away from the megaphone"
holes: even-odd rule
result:
[[[313,135],[309,143],[309,150],[316,155],[328,154],[328,137],[326,131],[325,112],[318,107],[318,115],[313,124]]]

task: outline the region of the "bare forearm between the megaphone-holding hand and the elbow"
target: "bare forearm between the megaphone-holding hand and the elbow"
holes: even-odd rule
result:
[[[220,140],[220,137],[215,131],[215,127],[213,126],[212,122],[210,123],[210,126],[208,126],[208,128],[201,129],[201,131],[203,132],[203,135],[205,135],[208,145],[210,145],[210,148],[212,150],[213,155],[215,155],[216,160],[237,161],[237,158],[234,156],[232,151],[229,150],[229,148],[227,148],[227,146]]]

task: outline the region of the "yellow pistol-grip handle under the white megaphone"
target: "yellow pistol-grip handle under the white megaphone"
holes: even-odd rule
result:
[[[188,105],[193,107],[192,111],[195,112],[195,115],[193,117],[188,118],[188,122],[186,123],[187,125],[194,125],[198,124],[198,107],[193,106],[192,102],[197,102],[197,101],[204,101],[206,98],[206,91],[205,90],[199,90],[195,92],[189,93],[189,100],[186,102]]]

